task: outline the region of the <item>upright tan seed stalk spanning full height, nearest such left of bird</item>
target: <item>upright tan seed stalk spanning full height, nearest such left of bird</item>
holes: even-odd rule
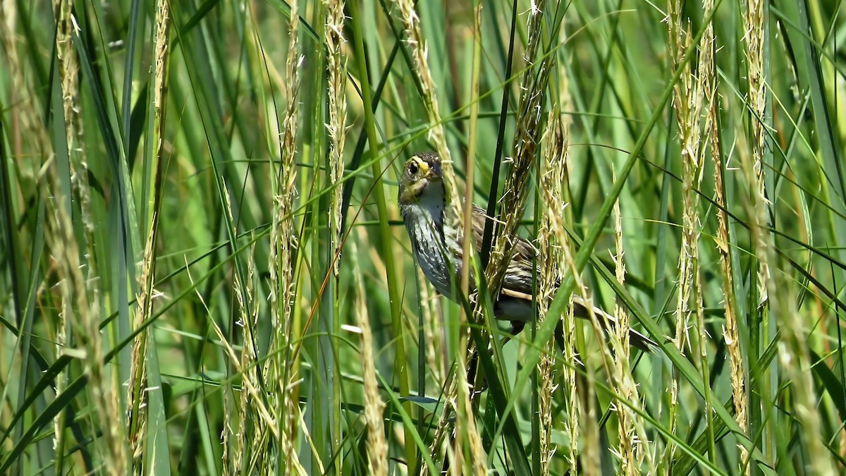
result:
[[[291,343],[288,337],[293,326],[293,305],[296,296],[294,285],[294,197],[297,170],[294,160],[297,154],[297,122],[299,119],[300,67],[303,57],[299,49],[299,2],[289,3],[288,58],[285,63],[285,113],[283,130],[280,132],[278,169],[271,161],[273,186],[273,219],[270,237],[271,318],[276,330],[266,370],[267,381],[275,386],[274,413],[278,421],[277,449],[283,457],[284,473],[304,473],[294,448],[299,407],[292,399],[288,388],[294,381],[289,357]],[[343,131],[342,131],[343,132]]]

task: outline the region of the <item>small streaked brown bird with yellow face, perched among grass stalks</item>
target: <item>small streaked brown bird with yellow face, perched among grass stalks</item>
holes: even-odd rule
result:
[[[463,200],[467,200],[464,197]],[[397,196],[400,213],[403,215],[405,229],[411,241],[411,251],[432,286],[438,293],[453,302],[458,302],[456,290],[459,289],[461,267],[464,260],[464,227],[455,227],[460,223],[452,216],[454,208],[449,206],[446,188],[443,182],[441,158],[435,152],[417,152],[406,161],[399,176]],[[470,230],[475,251],[480,252],[482,233],[485,229],[486,213],[473,204]],[[509,321],[512,334],[517,335],[535,315],[532,308],[533,274],[537,252],[535,246],[522,237],[515,237],[513,253],[503,279],[503,287],[494,302],[494,317]],[[470,276],[470,295],[475,293],[475,284]],[[574,295],[574,316],[591,318],[588,306],[597,320],[605,326],[613,326],[616,319],[592,306],[583,297]],[[559,323],[559,332],[563,329]],[[559,346],[563,340],[557,336]],[[640,332],[629,329],[629,343],[642,351],[655,352],[657,344]]]

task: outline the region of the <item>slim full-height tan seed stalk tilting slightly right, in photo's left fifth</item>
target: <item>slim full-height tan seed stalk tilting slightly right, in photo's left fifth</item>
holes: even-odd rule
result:
[[[141,262],[140,277],[138,280],[138,306],[135,307],[135,319],[133,326],[137,329],[147,319],[152,317],[153,297],[157,291],[153,289],[156,279],[156,245],[158,239],[158,227],[160,209],[162,207],[162,174],[164,173],[164,124],[165,105],[167,97],[167,74],[168,74],[168,30],[170,27],[170,4],[166,0],[158,3],[156,13],[156,47],[154,51],[153,78],[152,78],[152,137],[151,141],[151,166],[153,189],[151,191],[153,207],[148,220],[147,240],[144,247],[144,257]],[[140,333],[134,340],[129,365],[129,388],[127,392],[127,407],[129,414],[129,448],[132,456],[132,468],[134,473],[146,472],[143,458],[146,453],[146,359],[149,329]]]

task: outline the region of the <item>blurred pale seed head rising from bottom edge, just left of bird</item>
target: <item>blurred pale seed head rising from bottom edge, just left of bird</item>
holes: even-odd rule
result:
[[[360,236],[364,234],[361,233]],[[361,337],[361,374],[365,383],[365,425],[367,427],[367,466],[373,476],[387,476],[387,440],[385,440],[385,402],[379,396],[379,383],[376,380],[376,360],[373,357],[373,334],[370,327],[370,314],[367,311],[367,293],[362,276],[364,270],[359,265],[358,246],[349,241],[350,267],[355,282],[355,316]]]

